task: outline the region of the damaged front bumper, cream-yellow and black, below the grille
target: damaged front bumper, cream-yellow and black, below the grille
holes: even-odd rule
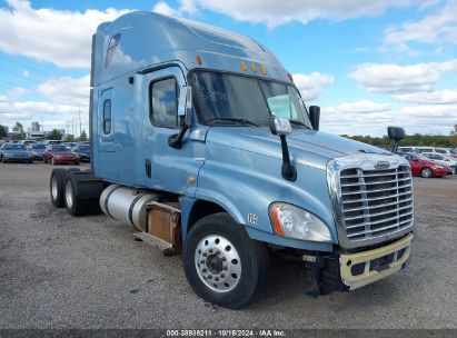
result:
[[[304,255],[312,287],[309,296],[355,290],[399,271],[408,261],[414,235],[409,232],[387,246],[356,254]]]

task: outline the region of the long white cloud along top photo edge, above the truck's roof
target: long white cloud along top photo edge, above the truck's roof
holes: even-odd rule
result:
[[[171,9],[167,2],[160,1],[165,11],[181,13],[187,8],[210,10],[226,14],[239,21],[267,23],[277,27],[291,21],[307,23],[315,19],[345,20],[359,17],[376,17],[388,8],[404,8],[413,4],[428,3],[429,0],[187,0],[180,1],[178,9]],[[188,10],[187,10],[188,11]]]

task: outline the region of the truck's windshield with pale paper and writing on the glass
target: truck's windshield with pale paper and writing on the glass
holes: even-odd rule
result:
[[[297,89],[276,81],[196,71],[191,77],[196,109],[210,126],[269,126],[271,116],[292,127],[312,129]]]

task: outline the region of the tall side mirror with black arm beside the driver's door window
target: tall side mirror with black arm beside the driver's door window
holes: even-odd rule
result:
[[[168,138],[168,146],[175,149],[181,149],[182,138],[190,127],[192,116],[192,88],[190,86],[181,87],[179,90],[178,101],[178,122],[181,127],[179,133],[171,135]]]

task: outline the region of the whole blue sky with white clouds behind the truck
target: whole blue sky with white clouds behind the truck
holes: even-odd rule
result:
[[[133,10],[265,44],[320,130],[449,135],[457,125],[457,0],[0,0],[0,125],[88,130],[91,34]],[[78,126],[78,127],[73,127]]]

